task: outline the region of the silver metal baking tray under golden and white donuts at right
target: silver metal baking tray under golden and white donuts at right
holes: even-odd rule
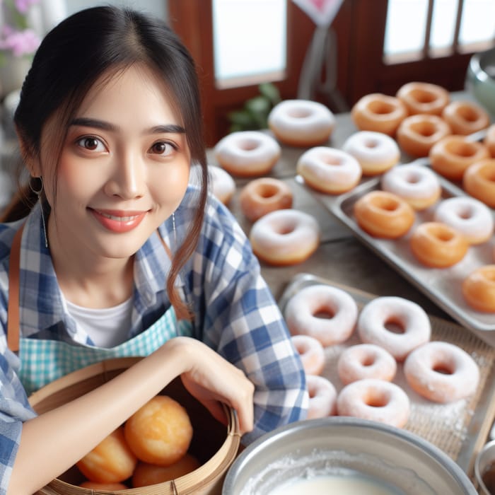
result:
[[[442,187],[441,199],[466,195],[465,192],[448,180],[440,176],[438,178]],[[303,182],[301,177],[298,180],[299,182]],[[388,262],[392,267],[402,273],[406,279],[414,284],[414,286],[417,286],[420,291],[431,298],[433,302],[438,304],[454,320],[475,332],[494,332],[495,315],[481,313],[470,308],[465,302],[461,291],[462,281],[468,274],[484,264],[493,264],[495,262],[493,240],[489,240],[487,243],[481,245],[470,246],[464,259],[453,267],[442,269],[425,267],[412,254],[409,248],[409,238],[414,227],[419,223],[432,221],[433,211],[436,205],[424,211],[417,211],[414,225],[409,230],[409,233],[402,236],[402,238],[397,240],[374,238],[363,231],[356,223],[353,209],[354,204],[363,194],[378,189],[380,189],[380,177],[375,177],[371,180],[361,182],[360,185],[356,186],[350,192],[338,196],[330,196],[329,194],[322,194],[315,191],[313,191],[313,194],[337,219],[347,225],[359,240],[367,245],[368,248],[371,248],[378,256],[382,257],[385,262]],[[481,335],[481,337],[488,336]]]

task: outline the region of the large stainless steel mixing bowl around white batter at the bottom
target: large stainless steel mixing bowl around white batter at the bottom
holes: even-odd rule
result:
[[[477,495],[465,472],[423,438],[349,417],[299,421],[262,436],[233,462],[222,494],[267,495],[320,474],[359,474],[404,495]]]

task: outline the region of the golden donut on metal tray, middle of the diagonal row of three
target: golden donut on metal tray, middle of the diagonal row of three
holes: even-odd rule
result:
[[[464,235],[441,222],[420,223],[412,232],[409,245],[417,260],[431,268],[452,267],[469,248]]]

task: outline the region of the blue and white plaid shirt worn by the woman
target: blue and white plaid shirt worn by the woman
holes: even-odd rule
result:
[[[187,191],[160,231],[173,251],[194,216],[195,194]],[[8,261],[14,233],[23,221],[0,224],[0,494],[4,494],[21,437],[33,417],[16,371],[19,359],[6,345]],[[23,337],[93,344],[66,310],[45,248],[38,205],[25,220],[21,245],[20,321]],[[165,281],[170,260],[158,235],[136,253],[134,308],[129,338],[146,330],[170,307]],[[255,429],[250,443],[277,426],[305,418],[308,394],[301,360],[260,266],[232,214],[213,197],[206,206],[197,249],[178,284],[194,313],[194,337],[245,371],[255,384]]]

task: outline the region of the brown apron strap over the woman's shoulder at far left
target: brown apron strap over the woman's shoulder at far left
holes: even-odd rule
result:
[[[13,352],[19,350],[19,272],[23,227],[21,226],[13,237],[8,264],[7,346]]]

